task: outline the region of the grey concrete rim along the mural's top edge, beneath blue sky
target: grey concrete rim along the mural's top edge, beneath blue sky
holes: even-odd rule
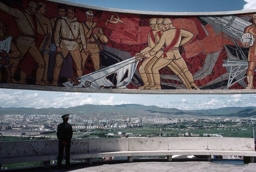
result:
[[[230,14],[243,14],[243,13],[253,13],[256,9],[252,10],[236,10],[236,11],[221,11],[221,12],[157,12],[157,11],[140,11],[140,10],[126,10],[126,9],[116,9],[109,7],[99,7],[93,5],[87,5],[82,3],[75,3],[63,0],[48,0],[57,3],[63,3],[71,6],[84,7],[94,10],[104,10],[110,12],[121,12],[121,13],[134,13],[134,14],[146,14],[146,15],[230,15]]]

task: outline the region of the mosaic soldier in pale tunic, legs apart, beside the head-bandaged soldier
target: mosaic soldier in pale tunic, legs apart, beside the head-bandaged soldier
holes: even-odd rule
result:
[[[66,59],[69,53],[75,63],[78,77],[83,75],[83,60],[79,50],[78,37],[81,39],[84,53],[86,55],[87,53],[90,54],[90,51],[86,48],[87,44],[84,35],[84,28],[75,17],[75,9],[73,7],[68,7],[68,16],[62,17],[57,21],[54,32],[54,43],[56,45],[57,55],[55,57],[53,84],[51,84],[51,86],[58,86],[63,60]]]

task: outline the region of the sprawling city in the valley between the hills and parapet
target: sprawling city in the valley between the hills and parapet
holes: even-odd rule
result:
[[[57,139],[61,114],[4,114],[0,141]],[[253,136],[252,117],[145,113],[70,114],[73,138],[122,137],[245,137]]]

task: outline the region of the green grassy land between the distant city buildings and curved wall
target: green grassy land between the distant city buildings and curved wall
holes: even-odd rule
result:
[[[133,133],[136,136],[149,136],[149,137],[159,137],[161,136],[160,128],[162,128],[163,136],[177,137],[178,135],[183,135],[185,132],[190,132],[194,134],[199,134],[200,136],[203,133],[207,134],[221,134],[223,137],[240,137],[240,138],[250,138],[253,136],[252,126],[243,126],[243,130],[239,127],[226,127],[225,128],[214,128],[214,129],[196,129],[196,130],[187,130],[187,129],[170,129],[166,126],[155,125],[155,126],[145,126],[140,128],[122,128],[122,129],[95,129],[90,134],[84,132],[74,132],[73,139],[77,138],[87,138],[87,137],[110,137],[106,136],[107,133],[117,134],[118,132]],[[84,134],[84,135],[83,135]],[[193,136],[193,134],[192,134]],[[0,141],[28,141],[28,140],[47,140],[47,139],[57,139],[56,133],[50,133],[42,135],[41,137],[20,137],[20,136],[0,136]]]

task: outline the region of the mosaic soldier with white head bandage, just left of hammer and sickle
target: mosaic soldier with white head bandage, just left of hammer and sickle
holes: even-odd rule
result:
[[[99,52],[102,50],[102,43],[108,43],[108,38],[105,36],[102,28],[95,27],[97,22],[93,22],[93,12],[92,10],[86,11],[86,21],[83,22],[84,31],[86,33],[87,49],[91,52],[90,55],[95,70],[100,69],[101,60],[99,57]],[[89,54],[82,55],[83,57],[83,70],[85,68],[86,60]]]

